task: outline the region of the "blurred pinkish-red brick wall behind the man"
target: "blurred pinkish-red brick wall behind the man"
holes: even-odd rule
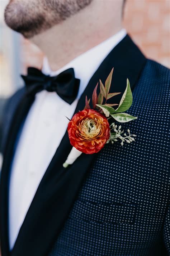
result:
[[[148,58],[170,67],[170,0],[127,0],[123,23]],[[41,68],[42,58],[36,46],[23,40],[23,71]]]

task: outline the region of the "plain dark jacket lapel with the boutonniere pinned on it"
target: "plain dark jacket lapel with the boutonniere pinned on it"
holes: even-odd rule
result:
[[[91,98],[99,78],[104,82],[113,67],[114,74],[110,92],[123,92],[126,87],[127,77],[133,89],[145,63],[146,58],[127,35],[109,53],[94,73],[77,104],[75,113],[84,108],[86,95]],[[115,96],[114,103],[119,103],[121,96]],[[9,150],[11,147],[9,147]],[[62,163],[65,162],[71,148],[66,132],[39,184],[23,225],[20,228],[11,256],[45,256],[48,254],[55,239],[57,239],[95,156],[94,154],[81,154],[71,166],[64,169]],[[6,156],[10,156],[10,154],[8,153]],[[9,157],[8,161],[9,159],[11,158]],[[3,168],[8,170],[9,165],[6,164]],[[6,171],[5,175],[5,179],[8,180],[8,171]],[[7,186],[7,181],[5,184]],[[3,205],[6,204],[7,198],[7,195],[3,196]],[[7,206],[5,213],[7,216]],[[8,225],[5,224],[4,229],[7,227]],[[6,239],[8,239],[7,231]],[[7,245],[8,242],[4,242],[4,247],[7,247]],[[6,255],[8,254],[6,253]],[[3,256],[6,255],[4,254]]]

